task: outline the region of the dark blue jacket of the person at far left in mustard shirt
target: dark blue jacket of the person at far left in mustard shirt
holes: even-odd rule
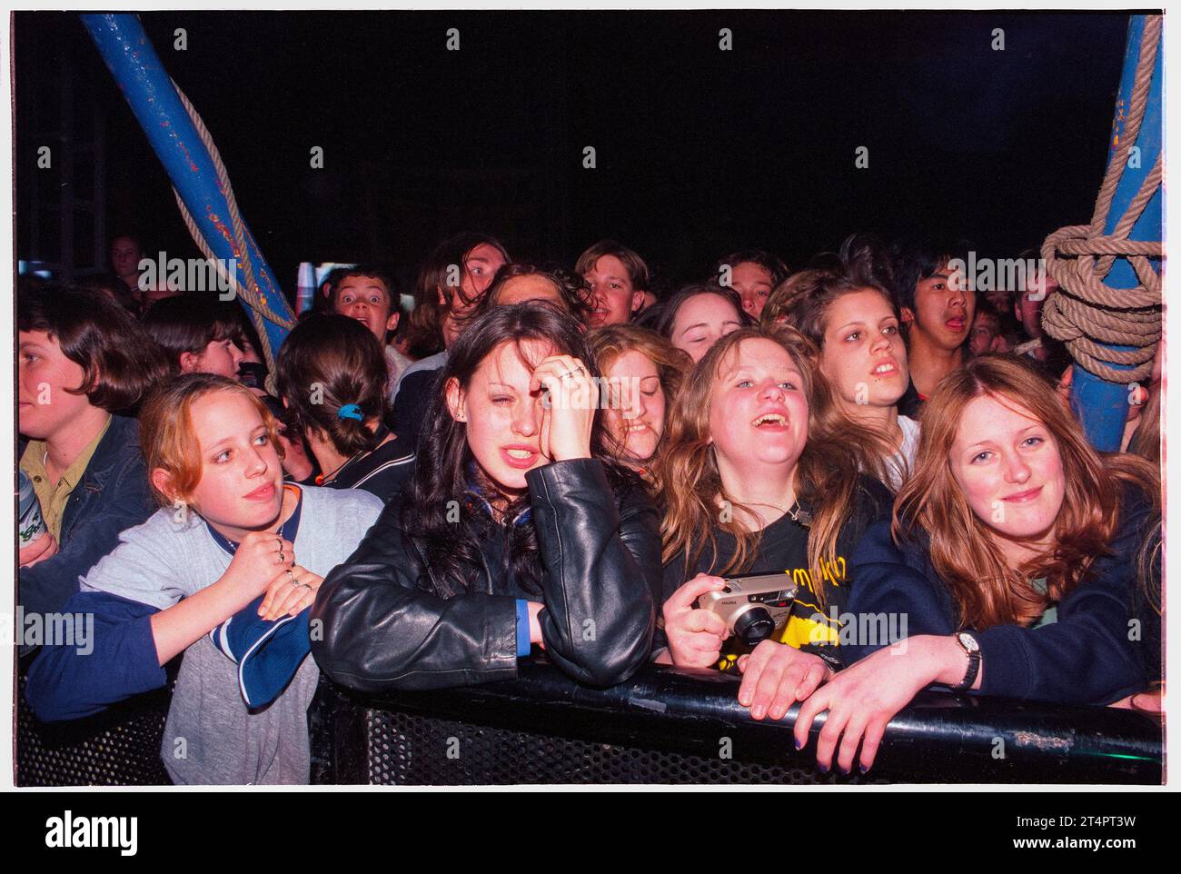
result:
[[[139,422],[112,416],[90,464],[66,501],[58,554],[20,569],[25,613],[57,613],[78,592],[98,560],[119,543],[119,533],[156,511],[139,451]]]

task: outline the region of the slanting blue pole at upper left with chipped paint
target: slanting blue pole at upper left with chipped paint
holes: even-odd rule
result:
[[[294,320],[291,306],[249,229],[246,231],[249,252],[237,250],[230,230],[229,206],[218,185],[213,158],[184,111],[139,18],[106,14],[83,15],[81,20],[214,255],[235,260],[239,265],[237,280],[243,286],[246,279],[241,263],[249,255],[260,296],[276,315]],[[246,301],[242,305],[248,306]],[[270,320],[263,324],[270,347],[278,351],[287,328]]]

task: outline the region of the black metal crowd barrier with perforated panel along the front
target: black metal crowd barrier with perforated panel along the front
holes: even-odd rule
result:
[[[517,679],[361,696],[321,683],[309,712],[314,783],[1140,783],[1162,777],[1159,723],[1133,711],[925,692],[890,723],[868,775],[824,775],[815,736],[757,723],[738,681],[651,666],[608,690],[544,664]],[[19,684],[24,691],[24,678]],[[17,784],[167,783],[168,693],[78,723],[17,707]]]

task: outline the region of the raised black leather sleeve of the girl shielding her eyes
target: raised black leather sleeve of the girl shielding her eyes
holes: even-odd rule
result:
[[[616,508],[602,463],[554,462],[526,475],[542,561],[546,654],[566,673],[612,686],[648,659],[660,596],[660,531],[637,489]]]

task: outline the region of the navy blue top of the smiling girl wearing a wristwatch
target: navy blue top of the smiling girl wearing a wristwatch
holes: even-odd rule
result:
[[[983,654],[983,694],[1109,704],[1147,685],[1138,644],[1129,641],[1129,618],[1138,585],[1136,557],[1150,514],[1149,497],[1124,485],[1111,553],[1095,559],[1083,580],[1058,602],[1057,622],[1040,628],[998,625],[976,632]],[[951,593],[931,563],[925,533],[900,547],[890,537],[888,520],[874,523],[857,544],[850,575],[857,585],[849,598],[848,618],[862,628],[885,625],[869,620],[872,614],[894,614],[906,617],[907,637],[961,630]],[[852,664],[888,643],[846,645],[842,640],[841,654]]]

